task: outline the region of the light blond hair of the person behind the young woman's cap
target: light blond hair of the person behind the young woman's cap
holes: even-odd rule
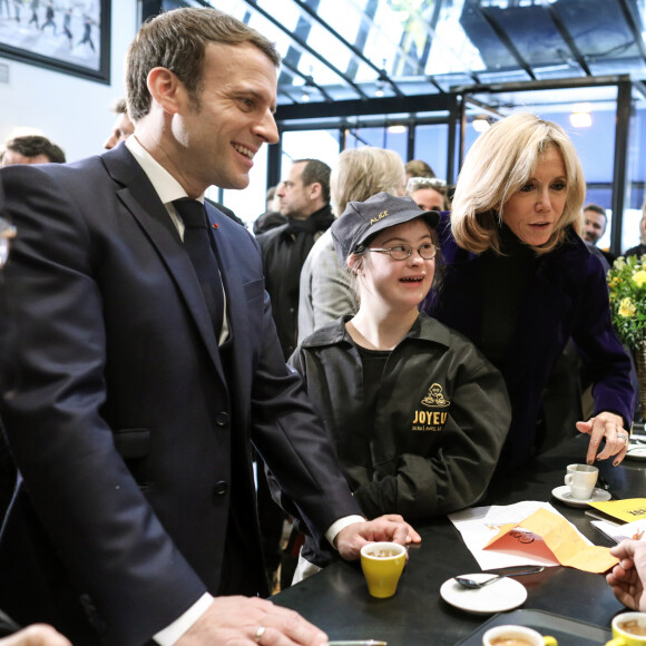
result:
[[[343,150],[330,176],[334,215],[341,216],[349,202],[364,202],[382,190],[400,195],[403,180],[403,161],[394,150],[370,146]]]

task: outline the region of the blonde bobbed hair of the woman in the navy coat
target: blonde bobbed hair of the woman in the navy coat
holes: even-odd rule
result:
[[[498,231],[505,205],[532,176],[540,156],[550,147],[562,157],[566,203],[549,241],[534,248],[538,254],[552,251],[569,225],[581,234],[586,183],[574,144],[557,124],[518,112],[480,135],[464,159],[451,212],[451,232],[461,247],[471,253],[489,248],[501,253]]]

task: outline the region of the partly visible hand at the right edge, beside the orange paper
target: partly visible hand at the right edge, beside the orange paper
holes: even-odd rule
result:
[[[613,547],[610,554],[619,559],[619,564],[606,575],[615,597],[628,608],[646,611],[646,542],[624,540]]]

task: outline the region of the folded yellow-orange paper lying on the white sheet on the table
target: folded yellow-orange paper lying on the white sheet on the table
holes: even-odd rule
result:
[[[518,527],[539,536],[542,542],[532,540],[525,532],[516,532]],[[517,536],[512,536],[513,534]],[[547,547],[561,565],[586,572],[605,572],[619,562],[610,555],[609,548],[588,545],[562,516],[547,509],[538,509],[521,522],[506,525],[484,549],[492,547],[493,544],[497,544],[497,548],[503,548],[510,538],[515,539],[515,549],[520,548],[540,556]]]

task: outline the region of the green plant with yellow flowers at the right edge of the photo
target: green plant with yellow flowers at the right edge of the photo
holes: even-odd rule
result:
[[[617,335],[638,350],[646,342],[646,255],[619,256],[608,272],[608,290]]]

